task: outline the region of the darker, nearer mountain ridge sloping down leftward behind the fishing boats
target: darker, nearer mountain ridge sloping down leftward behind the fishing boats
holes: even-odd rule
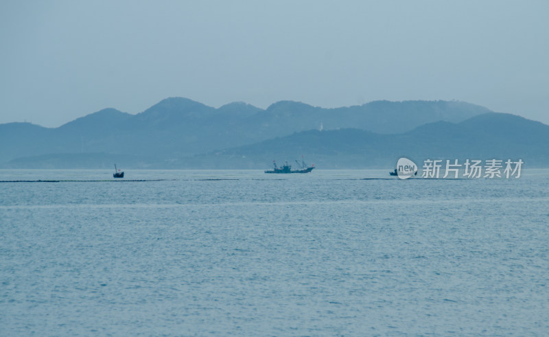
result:
[[[516,115],[487,113],[458,124],[438,121],[397,135],[354,128],[308,130],[209,154],[189,167],[257,168],[278,159],[305,159],[323,168],[392,167],[400,156],[416,163],[425,159],[522,159],[528,167],[549,166],[549,126]],[[174,167],[183,167],[183,162]]]

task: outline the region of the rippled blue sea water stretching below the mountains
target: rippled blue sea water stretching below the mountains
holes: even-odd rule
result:
[[[549,170],[0,181],[2,336],[549,334]]]

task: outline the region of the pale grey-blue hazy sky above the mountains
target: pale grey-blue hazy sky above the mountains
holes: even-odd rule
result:
[[[0,124],[167,97],[459,100],[549,124],[549,1],[0,2]]]

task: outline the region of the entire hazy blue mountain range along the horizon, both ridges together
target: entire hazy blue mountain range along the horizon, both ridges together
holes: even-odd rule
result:
[[[549,126],[465,102],[377,101],[319,108],[281,101],[220,108],[172,97],[59,128],[0,124],[0,165],[27,168],[266,168],[305,156],[323,168],[391,167],[398,156],[523,159],[549,165]]]

